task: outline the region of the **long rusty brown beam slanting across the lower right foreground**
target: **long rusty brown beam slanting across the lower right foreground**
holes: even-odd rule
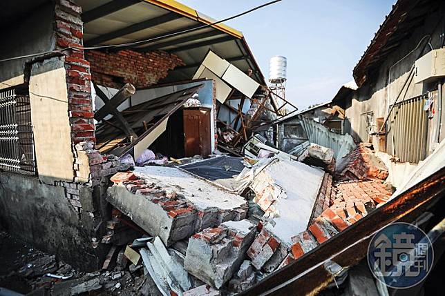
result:
[[[434,206],[445,195],[444,182],[445,168],[442,168],[239,295],[285,295],[296,290],[301,295],[319,292],[333,279],[323,268],[323,262],[332,260],[343,267],[359,263],[366,256],[368,243],[376,231],[395,221],[413,221]]]

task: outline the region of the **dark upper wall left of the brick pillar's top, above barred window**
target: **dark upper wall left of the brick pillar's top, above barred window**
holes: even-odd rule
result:
[[[53,50],[55,47],[53,23],[54,3],[35,9],[27,17],[17,19],[9,28],[1,30],[0,59],[30,55]],[[28,59],[18,59],[0,64],[0,89],[23,83],[23,69]],[[7,83],[7,84],[4,84]]]

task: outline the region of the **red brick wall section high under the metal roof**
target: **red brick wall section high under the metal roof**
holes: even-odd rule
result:
[[[178,56],[162,51],[89,50],[86,59],[91,63],[93,81],[111,88],[121,88],[123,83],[132,83],[136,88],[151,86],[167,77],[168,70],[184,65]]]

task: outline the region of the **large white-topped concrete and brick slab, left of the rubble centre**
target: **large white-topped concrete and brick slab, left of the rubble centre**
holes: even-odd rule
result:
[[[108,188],[107,201],[167,246],[247,214],[243,197],[178,168],[146,166],[133,173],[136,179]]]

